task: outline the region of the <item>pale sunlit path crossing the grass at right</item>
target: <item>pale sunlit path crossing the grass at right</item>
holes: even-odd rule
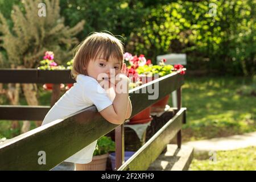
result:
[[[230,137],[187,142],[183,143],[183,145],[193,147],[195,152],[236,150],[238,148],[256,146],[256,131]]]

